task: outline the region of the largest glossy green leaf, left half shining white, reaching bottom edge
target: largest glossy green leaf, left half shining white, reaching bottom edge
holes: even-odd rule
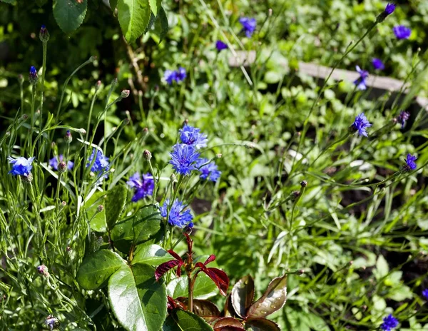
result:
[[[129,331],[160,330],[166,317],[166,290],[156,282],[150,265],[125,266],[108,281],[108,300],[114,315]]]

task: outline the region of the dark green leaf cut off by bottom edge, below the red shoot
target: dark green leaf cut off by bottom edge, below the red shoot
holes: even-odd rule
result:
[[[154,329],[153,329],[154,330]],[[187,310],[173,310],[165,320],[163,331],[213,331],[205,320]]]

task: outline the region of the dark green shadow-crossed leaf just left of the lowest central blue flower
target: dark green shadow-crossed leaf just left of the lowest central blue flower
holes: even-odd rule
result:
[[[161,212],[156,205],[146,205],[130,218],[118,222],[111,230],[111,239],[118,250],[128,253],[136,246],[156,235],[161,229]]]

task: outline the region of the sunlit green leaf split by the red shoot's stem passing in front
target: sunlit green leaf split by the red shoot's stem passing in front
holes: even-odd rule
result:
[[[174,278],[167,285],[168,295],[174,299],[177,297],[188,297],[188,279],[186,276]],[[208,299],[217,295],[218,289],[213,280],[204,273],[200,273],[193,287],[194,299]]]

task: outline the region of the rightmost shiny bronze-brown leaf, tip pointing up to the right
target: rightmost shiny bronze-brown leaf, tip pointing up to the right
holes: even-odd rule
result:
[[[287,275],[277,277],[259,300],[248,308],[247,317],[263,318],[280,310],[287,300]]]

